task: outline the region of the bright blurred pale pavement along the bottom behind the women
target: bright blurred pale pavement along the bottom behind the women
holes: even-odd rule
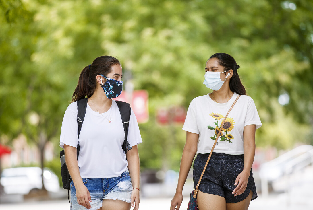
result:
[[[293,174],[285,180],[281,180],[280,186],[287,188],[284,193],[270,193],[268,197],[259,197],[250,203],[249,210],[311,210],[313,209],[313,167]],[[287,186],[287,187],[286,187]],[[190,189],[191,187],[187,187]],[[156,191],[156,189],[154,190]],[[69,209],[67,192],[61,191],[56,199],[49,201],[25,201],[18,202],[18,196],[11,198],[9,203],[0,203],[0,210],[62,210]],[[173,194],[173,193],[172,193]],[[4,198],[4,197],[3,197]],[[172,195],[167,197],[141,197],[139,209],[141,210],[168,210]],[[187,209],[189,197],[184,197],[181,210]],[[8,202],[8,199],[4,200]],[[131,208],[133,209],[133,208]]]

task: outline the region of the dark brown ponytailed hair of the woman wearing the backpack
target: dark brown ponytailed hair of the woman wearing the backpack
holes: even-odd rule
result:
[[[85,98],[86,95],[88,98],[92,96],[97,85],[96,76],[99,74],[107,76],[112,71],[113,65],[121,65],[121,63],[117,58],[105,55],[96,58],[91,65],[86,66],[80,73],[72,102]]]

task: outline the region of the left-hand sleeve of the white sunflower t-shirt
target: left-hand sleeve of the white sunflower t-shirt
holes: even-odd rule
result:
[[[198,124],[197,124],[197,112],[196,112],[195,100],[192,100],[189,104],[185,123],[182,127],[183,130],[199,134]]]

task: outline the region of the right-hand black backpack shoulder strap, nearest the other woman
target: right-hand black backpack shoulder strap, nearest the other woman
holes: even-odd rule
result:
[[[127,153],[128,150],[132,149],[127,140],[129,119],[131,117],[131,106],[129,105],[129,103],[126,103],[123,101],[115,101],[115,102],[120,110],[122,123],[124,126],[124,132],[125,132],[125,138],[124,138],[124,143],[122,145],[122,149],[125,151],[125,153]]]

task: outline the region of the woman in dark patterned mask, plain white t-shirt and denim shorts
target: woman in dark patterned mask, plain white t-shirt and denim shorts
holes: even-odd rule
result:
[[[118,59],[100,56],[80,73],[72,103],[65,111],[60,147],[72,177],[71,210],[130,210],[139,206],[140,163],[137,144],[141,135],[134,112],[122,121],[114,98],[123,88]],[[82,128],[78,132],[77,101],[88,98]],[[127,120],[126,120],[127,121]],[[123,150],[124,125],[131,149]],[[77,159],[77,144],[80,146]]]

